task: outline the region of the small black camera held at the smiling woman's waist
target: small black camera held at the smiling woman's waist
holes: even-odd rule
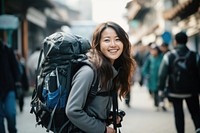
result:
[[[123,121],[123,117],[126,115],[126,113],[123,110],[118,110],[117,116],[121,118],[121,121]],[[121,121],[119,124],[117,124],[117,127],[121,127]],[[110,112],[109,118],[106,121],[107,125],[113,124],[113,111]]]

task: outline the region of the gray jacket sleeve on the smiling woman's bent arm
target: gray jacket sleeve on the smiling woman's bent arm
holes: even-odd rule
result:
[[[84,132],[103,133],[105,124],[100,120],[87,115],[84,111],[93,77],[94,72],[89,66],[83,66],[74,75],[71,92],[66,106],[66,114],[69,120]]]

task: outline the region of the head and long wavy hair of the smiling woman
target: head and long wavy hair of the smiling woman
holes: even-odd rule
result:
[[[105,22],[97,26],[93,33],[92,50],[96,56],[100,56],[96,64],[102,65],[99,68],[101,81],[106,86],[109,80],[109,73],[106,69],[111,69],[110,63],[119,71],[118,82],[120,87],[120,96],[124,96],[130,89],[130,82],[133,71],[135,70],[135,61],[131,58],[131,43],[128,34],[115,22]],[[105,68],[104,68],[105,67]]]

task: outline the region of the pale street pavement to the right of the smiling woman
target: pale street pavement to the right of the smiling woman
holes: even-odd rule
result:
[[[156,111],[153,99],[145,87],[138,84],[132,87],[131,108],[123,102],[119,103],[126,112],[122,123],[122,133],[176,133],[173,109],[167,106],[167,112]],[[194,133],[194,126],[190,114],[184,104],[185,133]]]

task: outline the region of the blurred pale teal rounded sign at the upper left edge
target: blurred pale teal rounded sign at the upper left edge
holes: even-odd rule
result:
[[[14,30],[19,25],[19,19],[14,15],[0,15],[0,29],[3,30]]]

